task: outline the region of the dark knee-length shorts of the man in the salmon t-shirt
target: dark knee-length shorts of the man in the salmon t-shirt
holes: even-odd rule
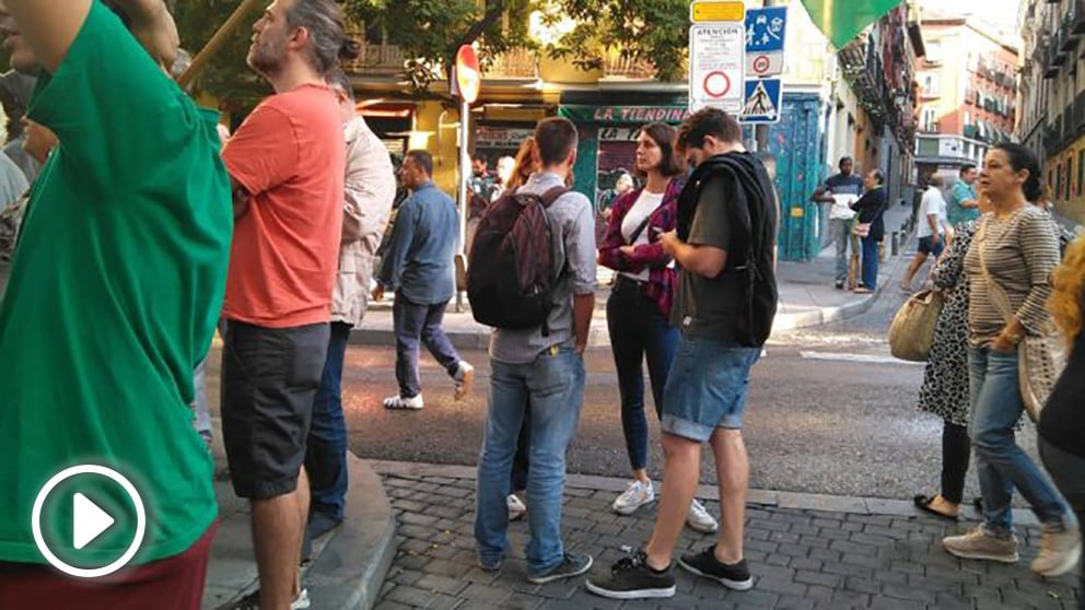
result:
[[[327,324],[264,328],[226,321],[222,438],[238,496],[270,500],[298,488],[329,333]]]

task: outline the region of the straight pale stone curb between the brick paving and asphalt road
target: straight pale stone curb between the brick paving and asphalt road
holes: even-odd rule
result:
[[[409,461],[365,460],[378,474],[393,477],[443,477],[448,479],[476,478],[474,466],[452,466],[441,464],[418,464]],[[594,474],[567,474],[565,488],[610,491],[615,494],[626,491],[628,479],[598,477]],[[702,500],[719,500],[720,488],[716,485],[698,485],[697,497]],[[793,508],[800,511],[821,511],[829,513],[848,513],[855,515],[882,515],[890,517],[918,517],[926,513],[915,507],[910,500],[886,497],[862,497],[850,495],[829,495],[774,490],[750,489],[746,504],[777,508]],[[965,519],[981,519],[982,516],[973,507],[962,507],[961,517]],[[1039,521],[1031,511],[1014,509],[1014,523],[1022,526],[1038,526]]]

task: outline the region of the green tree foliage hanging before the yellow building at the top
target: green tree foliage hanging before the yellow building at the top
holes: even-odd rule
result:
[[[194,54],[211,38],[241,0],[171,0],[182,44]],[[608,57],[646,59],[661,81],[685,74],[688,0],[340,0],[348,20],[362,24],[369,44],[398,45],[404,75],[416,94],[447,77],[462,44],[475,43],[482,66],[514,47],[567,58],[586,69]],[[560,35],[538,40],[529,32],[532,14]],[[253,15],[253,21],[256,14]],[[235,32],[196,81],[207,92],[246,107],[268,93],[245,64],[249,27]]]

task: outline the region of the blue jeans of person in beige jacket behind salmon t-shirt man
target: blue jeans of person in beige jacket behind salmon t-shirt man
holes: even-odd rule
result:
[[[305,471],[311,491],[310,513],[342,520],[347,496],[347,423],[342,414],[342,365],[350,325],[331,322],[328,357],[320,389],[313,400],[313,422],[305,448]]]

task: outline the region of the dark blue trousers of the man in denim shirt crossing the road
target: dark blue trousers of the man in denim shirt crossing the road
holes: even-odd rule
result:
[[[447,301],[419,305],[396,294],[396,301],[392,305],[392,322],[396,330],[396,380],[399,382],[400,397],[415,398],[422,392],[422,383],[418,378],[420,343],[425,343],[425,348],[450,376],[454,376],[459,369],[459,354],[441,328],[447,306]]]

